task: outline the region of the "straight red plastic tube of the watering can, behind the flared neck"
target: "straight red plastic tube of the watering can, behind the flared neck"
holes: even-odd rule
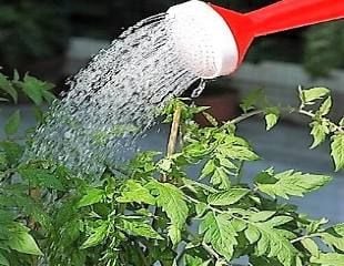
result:
[[[282,0],[245,14],[255,37],[344,18],[344,0]]]

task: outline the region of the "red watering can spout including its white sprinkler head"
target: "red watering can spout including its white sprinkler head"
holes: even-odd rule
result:
[[[281,0],[249,13],[191,0],[166,16],[180,60],[203,79],[234,72],[257,37],[343,18],[343,0]]]

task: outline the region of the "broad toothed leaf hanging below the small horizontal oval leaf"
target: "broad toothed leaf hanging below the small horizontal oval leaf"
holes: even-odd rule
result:
[[[226,215],[209,212],[201,221],[200,234],[204,234],[203,242],[210,244],[215,252],[229,262],[232,259],[234,246],[237,245],[237,233]]]

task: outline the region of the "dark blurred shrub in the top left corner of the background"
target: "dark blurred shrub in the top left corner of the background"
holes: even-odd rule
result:
[[[1,1],[0,59],[2,66],[49,59],[67,47],[69,27],[61,1]]]

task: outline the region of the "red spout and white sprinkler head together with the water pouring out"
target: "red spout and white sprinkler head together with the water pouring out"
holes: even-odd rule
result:
[[[101,174],[130,157],[138,136],[155,123],[156,110],[200,76],[235,71],[255,37],[343,13],[344,0],[284,0],[247,14],[191,0],[144,19],[71,79],[28,156]]]

